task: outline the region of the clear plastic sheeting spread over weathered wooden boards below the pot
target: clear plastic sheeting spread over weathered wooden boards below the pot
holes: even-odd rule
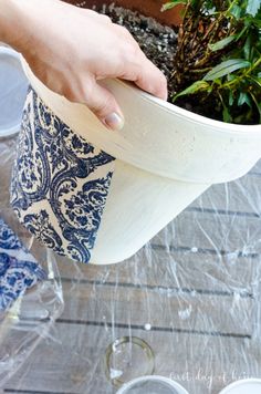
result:
[[[19,226],[13,151],[0,142],[0,215],[50,280],[21,300],[23,319],[1,324],[4,392],[111,394],[152,369],[190,394],[261,377],[261,164],[212,186],[130,259],[97,267],[54,258]]]

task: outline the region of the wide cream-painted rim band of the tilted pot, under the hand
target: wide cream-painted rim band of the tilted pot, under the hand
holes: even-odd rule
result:
[[[65,124],[76,134],[88,138],[94,146],[134,167],[170,179],[216,184],[241,177],[260,159],[261,125],[238,126],[213,121],[154,97],[133,83],[117,79],[104,80],[102,85],[112,90],[117,98],[122,97],[123,108],[127,111],[126,127],[119,132],[104,133],[105,126],[86,105],[72,103],[54,93],[33,74],[25,60],[23,65],[35,92]],[[132,106],[133,110],[128,112]],[[90,126],[85,133],[87,120]],[[145,133],[140,133],[140,122],[146,126]],[[158,133],[161,126],[163,131]],[[132,132],[132,127],[135,131]],[[174,155],[173,136],[176,134]],[[196,139],[196,147],[191,149],[189,142],[194,144]],[[182,148],[184,142],[186,149]],[[198,162],[200,156],[202,160]],[[234,166],[239,157],[242,163]]]

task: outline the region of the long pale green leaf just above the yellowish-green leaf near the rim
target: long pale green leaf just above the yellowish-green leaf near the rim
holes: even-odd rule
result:
[[[203,77],[203,81],[215,81],[218,77],[221,77],[223,75],[228,75],[232,73],[233,71],[237,71],[239,69],[246,69],[251,65],[250,62],[243,59],[231,59],[231,60],[226,60],[225,62],[216,65],[212,70],[210,70]]]

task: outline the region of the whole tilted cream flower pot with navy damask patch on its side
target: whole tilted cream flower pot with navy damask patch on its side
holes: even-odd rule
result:
[[[261,157],[261,126],[205,118],[117,80],[101,82],[125,115],[109,132],[83,104],[24,71],[29,92],[12,206],[48,247],[93,263],[140,249],[211,184],[244,175]]]

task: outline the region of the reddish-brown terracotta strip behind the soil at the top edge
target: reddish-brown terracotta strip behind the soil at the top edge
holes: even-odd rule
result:
[[[178,25],[181,22],[180,11],[182,6],[177,6],[171,10],[166,12],[161,12],[161,6],[166,1],[163,0],[64,0],[71,4],[92,8],[92,6],[102,6],[104,3],[109,4],[114,2],[115,4],[128,8],[130,10],[139,11],[140,13],[153,17],[157,19],[159,22],[169,24],[169,25]]]

